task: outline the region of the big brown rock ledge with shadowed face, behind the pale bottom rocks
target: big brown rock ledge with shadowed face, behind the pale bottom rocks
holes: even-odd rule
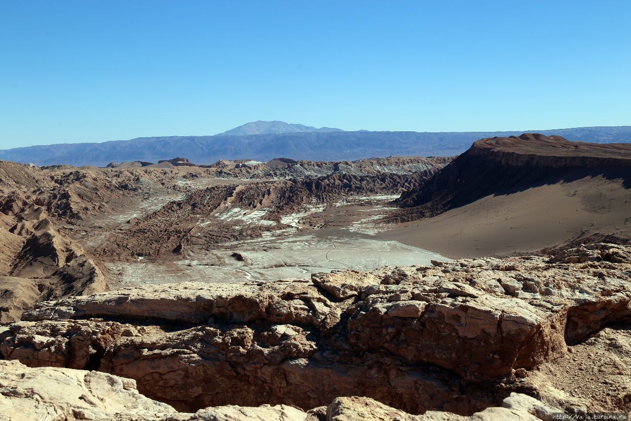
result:
[[[186,411],[235,403],[307,410],[360,395],[408,413],[470,415],[497,405],[507,385],[565,356],[568,345],[631,320],[631,264],[557,259],[69,297],[4,327],[0,351],[32,367],[131,377],[141,393]]]

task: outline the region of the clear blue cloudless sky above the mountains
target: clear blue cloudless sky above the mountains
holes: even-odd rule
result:
[[[0,0],[0,149],[631,125],[631,2]]]

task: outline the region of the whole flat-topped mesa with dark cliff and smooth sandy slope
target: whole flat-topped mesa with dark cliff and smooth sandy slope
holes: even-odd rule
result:
[[[450,257],[507,255],[604,234],[631,238],[631,145],[525,134],[475,142],[404,193],[384,233]]]

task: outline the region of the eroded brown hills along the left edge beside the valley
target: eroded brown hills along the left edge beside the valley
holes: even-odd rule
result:
[[[69,226],[177,188],[175,173],[0,162],[0,321],[41,300],[109,289],[108,274]]]

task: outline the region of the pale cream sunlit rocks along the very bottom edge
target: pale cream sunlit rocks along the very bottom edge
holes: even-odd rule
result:
[[[524,394],[512,393],[501,407],[471,417],[428,411],[411,415],[370,398],[336,398],[329,405],[304,412],[287,405],[216,406],[196,413],[138,393],[136,382],[95,371],[52,367],[29,368],[17,361],[0,361],[0,409],[3,420],[139,420],[139,421],[447,421],[551,419],[558,412]]]

